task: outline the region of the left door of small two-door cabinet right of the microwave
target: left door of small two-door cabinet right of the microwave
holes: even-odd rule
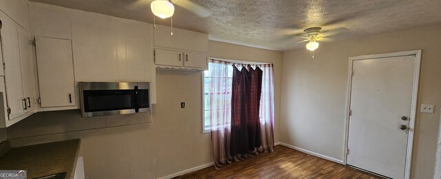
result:
[[[183,65],[183,52],[181,51],[156,49],[154,53],[156,65],[175,67]]]

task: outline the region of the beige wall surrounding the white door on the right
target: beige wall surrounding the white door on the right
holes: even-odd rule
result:
[[[280,141],[342,160],[348,58],[422,50],[412,178],[433,178],[441,105],[441,25],[320,44],[316,58],[305,49],[285,52]],[[435,114],[419,112],[434,104]]]

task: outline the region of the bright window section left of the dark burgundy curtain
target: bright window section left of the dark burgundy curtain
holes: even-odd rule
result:
[[[208,69],[203,73],[203,131],[209,132],[210,116],[223,115],[227,120],[231,118],[231,92],[233,66],[218,61],[210,61]],[[227,109],[227,110],[225,110]],[[230,114],[227,114],[229,111]]]

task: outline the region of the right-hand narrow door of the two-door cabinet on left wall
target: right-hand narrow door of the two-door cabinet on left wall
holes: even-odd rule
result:
[[[21,75],[23,79],[23,96],[27,101],[26,112],[30,112],[33,109],[36,109],[37,84],[35,82],[37,81],[37,73],[35,72],[35,63],[31,56],[32,45],[30,44],[30,33],[21,27],[18,27],[18,31]]]

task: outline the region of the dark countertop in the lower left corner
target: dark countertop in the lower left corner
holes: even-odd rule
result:
[[[0,156],[0,170],[27,170],[28,178],[66,172],[74,178],[80,140],[13,147]]]

